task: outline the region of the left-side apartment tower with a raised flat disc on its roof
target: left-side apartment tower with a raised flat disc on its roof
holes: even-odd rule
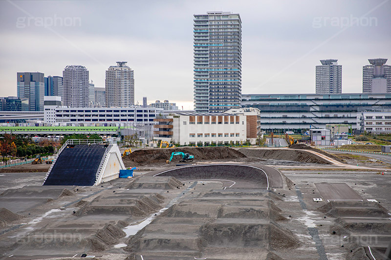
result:
[[[129,107],[134,104],[134,71],[127,61],[117,61],[106,71],[106,106]]]

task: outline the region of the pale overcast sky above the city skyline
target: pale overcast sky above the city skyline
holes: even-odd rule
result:
[[[323,59],[342,64],[343,93],[361,93],[368,59],[391,65],[389,0],[2,0],[0,96],[16,96],[17,72],[71,64],[104,87],[107,68],[128,61],[139,103],[193,109],[193,15],[207,11],[240,14],[242,94],[315,93]]]

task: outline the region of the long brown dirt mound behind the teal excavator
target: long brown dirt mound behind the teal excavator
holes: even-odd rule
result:
[[[237,150],[228,147],[178,147],[175,149],[143,149],[137,150],[122,160],[126,167],[141,166],[149,163],[164,163],[170,159],[172,152],[183,152],[194,155],[194,160],[235,159],[246,157]],[[172,162],[178,162],[180,156],[175,156]]]

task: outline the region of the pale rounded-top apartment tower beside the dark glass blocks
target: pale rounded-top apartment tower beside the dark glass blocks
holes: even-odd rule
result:
[[[68,65],[63,71],[64,100],[69,107],[88,106],[88,70],[80,65]]]

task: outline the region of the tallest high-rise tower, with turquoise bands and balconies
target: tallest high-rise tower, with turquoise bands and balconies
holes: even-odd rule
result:
[[[241,104],[241,20],[231,12],[194,15],[196,112],[223,112]]]

